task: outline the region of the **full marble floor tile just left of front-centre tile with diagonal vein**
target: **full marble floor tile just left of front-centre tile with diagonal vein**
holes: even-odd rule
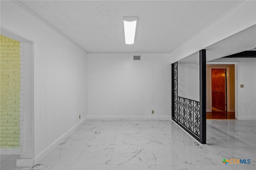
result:
[[[86,145],[78,156],[75,165],[108,165],[110,163],[114,146]]]

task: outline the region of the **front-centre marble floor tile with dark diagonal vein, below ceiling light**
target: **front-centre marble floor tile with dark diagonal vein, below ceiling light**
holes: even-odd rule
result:
[[[146,165],[143,146],[115,146],[111,165]]]

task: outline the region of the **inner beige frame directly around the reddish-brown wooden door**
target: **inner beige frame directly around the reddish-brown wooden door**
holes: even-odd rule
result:
[[[210,91],[212,91],[212,69],[226,69],[225,77],[225,111],[230,111],[230,67],[229,66],[210,66]],[[210,112],[212,112],[212,93],[210,93]]]

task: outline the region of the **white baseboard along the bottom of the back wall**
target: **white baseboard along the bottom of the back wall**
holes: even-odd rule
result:
[[[88,116],[88,120],[171,120],[170,116]]]

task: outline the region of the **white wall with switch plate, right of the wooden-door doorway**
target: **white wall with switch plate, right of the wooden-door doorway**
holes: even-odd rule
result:
[[[256,58],[219,58],[211,62],[239,62],[235,66],[236,114],[238,119],[256,119]],[[209,62],[210,63],[210,62]],[[243,84],[244,88],[240,88]],[[238,109],[237,109],[238,106]]]

